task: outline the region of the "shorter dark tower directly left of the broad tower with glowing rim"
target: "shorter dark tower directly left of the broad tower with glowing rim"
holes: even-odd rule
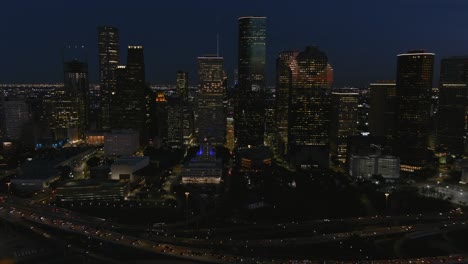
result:
[[[369,132],[391,140],[395,133],[396,84],[395,81],[380,81],[369,84],[370,111]]]

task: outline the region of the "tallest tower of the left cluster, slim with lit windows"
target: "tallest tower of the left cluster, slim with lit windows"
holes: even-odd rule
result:
[[[119,65],[119,30],[112,26],[98,27],[99,83],[101,96],[100,122],[97,127],[108,130],[112,92],[116,89],[116,70]]]

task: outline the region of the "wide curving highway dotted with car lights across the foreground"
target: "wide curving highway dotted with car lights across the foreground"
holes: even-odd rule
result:
[[[212,238],[209,236],[188,238],[168,235],[166,231],[163,232],[164,234],[153,236],[150,239],[143,239],[141,237],[130,236],[116,231],[113,224],[109,223],[105,219],[85,216],[67,209],[46,204],[36,204],[30,200],[15,197],[9,197],[0,202],[0,218],[9,222],[21,223],[28,227],[30,226],[31,230],[37,228],[37,226],[43,226],[66,234],[73,234],[78,237],[98,241],[98,243],[101,242],[116,246],[129,247],[145,252],[202,263],[284,263],[284,259],[260,259],[226,254],[222,252],[222,249],[226,249],[227,251],[231,248],[247,247],[294,247],[345,241],[353,236],[379,237],[404,235],[407,238],[417,238],[436,234],[438,232],[445,232],[445,230],[448,230],[448,227],[450,227],[450,230],[454,230],[466,229],[467,226],[466,217],[464,215],[463,217],[454,217],[450,214],[439,213],[431,215],[322,219],[274,225],[254,225],[256,226],[256,230],[251,233],[253,234],[253,237],[260,235],[261,232],[270,230],[271,233],[276,233],[278,236],[277,238],[272,239],[266,239],[264,237],[257,239],[232,239],[227,236],[221,238]],[[415,223],[389,225],[389,223],[405,221],[414,221]],[[321,227],[342,224],[351,225],[354,229],[340,232],[320,231]],[[161,228],[164,229],[164,227]],[[250,228],[252,228],[252,226],[250,226]],[[317,228],[319,231],[315,231],[314,228]],[[219,230],[222,230],[226,234],[229,232],[236,233],[240,231],[248,233],[249,226],[239,228],[223,227],[219,228]],[[212,229],[201,231],[206,231],[207,234],[213,232]],[[297,235],[301,232],[304,234]],[[291,259],[291,261],[294,260]]]

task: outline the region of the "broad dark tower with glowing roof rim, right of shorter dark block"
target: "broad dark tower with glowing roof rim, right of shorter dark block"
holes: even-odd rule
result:
[[[428,158],[434,54],[421,50],[398,55],[396,150],[401,170],[414,172]]]

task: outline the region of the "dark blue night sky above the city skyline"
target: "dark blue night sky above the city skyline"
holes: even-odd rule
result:
[[[99,25],[120,29],[126,46],[145,46],[147,80],[175,83],[178,69],[196,80],[196,57],[216,52],[232,80],[237,65],[237,18],[268,17],[267,79],[278,52],[318,45],[335,70],[335,86],[362,87],[395,78],[396,55],[410,49],[440,59],[468,54],[466,0],[14,0],[0,3],[0,83],[61,82],[61,48],[88,47],[97,82]]]

